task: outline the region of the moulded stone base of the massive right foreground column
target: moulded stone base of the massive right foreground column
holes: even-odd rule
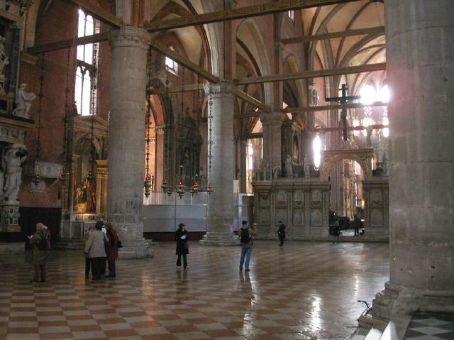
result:
[[[454,313],[454,290],[421,290],[385,283],[372,301],[372,316],[390,319],[391,314],[415,312]]]

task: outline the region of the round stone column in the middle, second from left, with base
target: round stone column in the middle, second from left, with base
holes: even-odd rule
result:
[[[211,170],[208,182],[213,185],[209,195],[207,233],[201,240],[204,246],[235,246],[238,236],[233,234],[233,178],[235,174],[235,141],[233,136],[233,92],[230,82],[206,85],[210,96],[211,115],[208,119],[208,137],[211,133]],[[208,98],[210,101],[210,98]],[[210,109],[209,109],[210,115]],[[210,132],[211,130],[211,132]],[[208,148],[210,146],[208,145]],[[208,155],[210,150],[208,151]],[[208,163],[210,159],[208,158]]]

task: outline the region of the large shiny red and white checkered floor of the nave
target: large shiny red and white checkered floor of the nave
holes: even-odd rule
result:
[[[52,251],[48,283],[32,285],[26,256],[0,258],[0,339],[345,339],[388,279],[385,243],[192,242],[188,270],[175,243],[117,262],[117,278],[86,282],[77,251]]]

